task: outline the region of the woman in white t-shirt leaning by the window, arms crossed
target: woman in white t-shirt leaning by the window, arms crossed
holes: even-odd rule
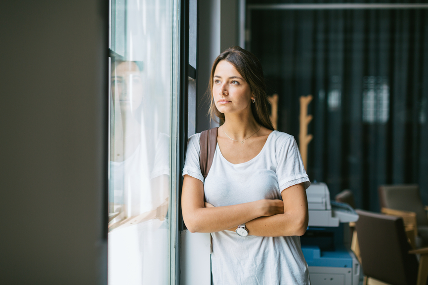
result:
[[[182,211],[189,231],[212,233],[214,285],[309,284],[299,236],[310,182],[293,136],[269,121],[258,59],[227,49],[214,61],[210,91],[220,119],[214,161],[204,181],[200,134],[189,138]]]

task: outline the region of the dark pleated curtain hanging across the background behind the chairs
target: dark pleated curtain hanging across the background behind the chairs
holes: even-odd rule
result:
[[[251,10],[247,46],[279,94],[278,129],[299,138],[307,172],[331,198],[350,189],[379,211],[382,184],[417,183],[428,204],[428,9]]]

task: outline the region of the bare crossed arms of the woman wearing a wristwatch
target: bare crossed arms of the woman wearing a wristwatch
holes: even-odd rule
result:
[[[245,223],[250,235],[262,237],[301,236],[308,223],[306,192],[302,184],[281,192],[281,200],[214,207],[204,204],[204,184],[184,175],[181,207],[190,232],[234,231]]]

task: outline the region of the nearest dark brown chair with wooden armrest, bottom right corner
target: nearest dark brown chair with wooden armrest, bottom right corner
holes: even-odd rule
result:
[[[365,284],[380,281],[389,285],[426,285],[428,247],[412,250],[403,219],[362,210],[356,212],[358,244],[367,276]],[[419,264],[415,254],[421,254]]]

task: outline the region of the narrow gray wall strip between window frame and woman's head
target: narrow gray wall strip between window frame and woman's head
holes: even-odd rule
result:
[[[196,132],[215,126],[207,116],[211,66],[221,51],[239,44],[239,0],[199,0]]]

